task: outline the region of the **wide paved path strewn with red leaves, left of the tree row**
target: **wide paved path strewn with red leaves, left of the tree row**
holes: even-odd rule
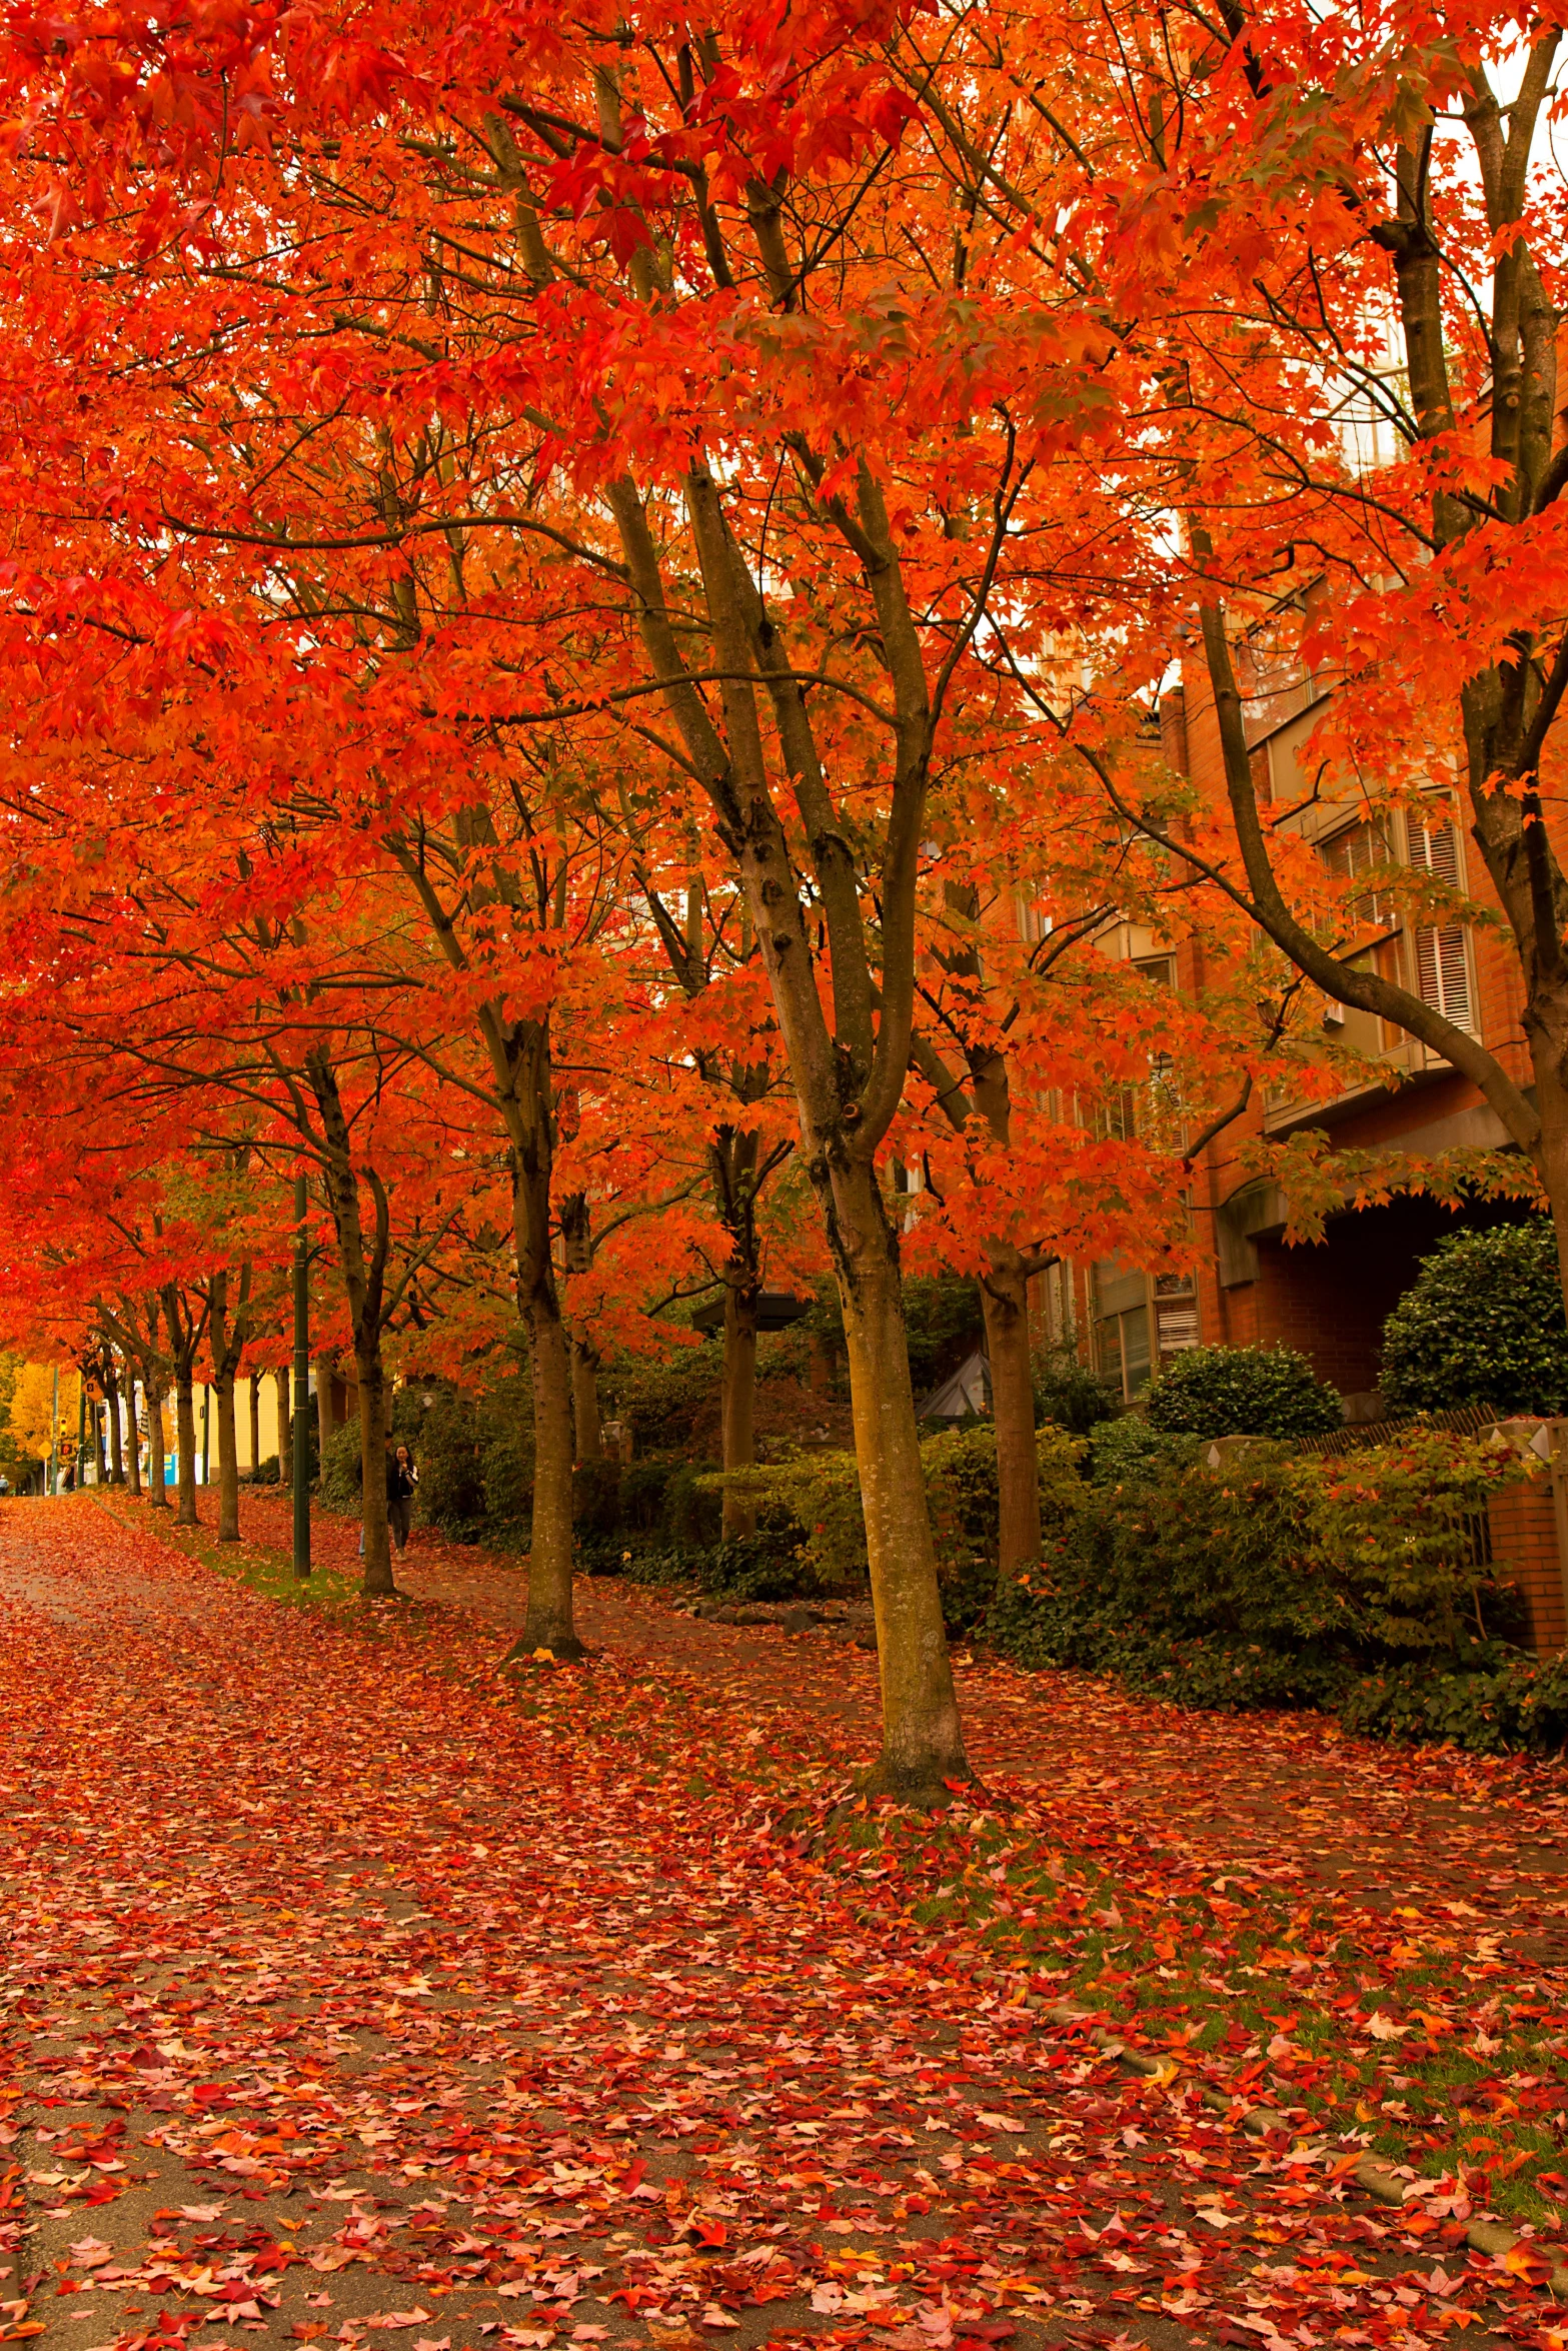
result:
[[[877,1855],[771,1834],[769,1726],[726,1768],[677,1674],[527,1712],[87,1500],[0,1505],[0,1636],[7,2339],[1544,2342],[1453,2196],[1347,2203],[1048,2027]],[[1119,1820],[1178,1726],[1110,1728],[1051,1737]]]

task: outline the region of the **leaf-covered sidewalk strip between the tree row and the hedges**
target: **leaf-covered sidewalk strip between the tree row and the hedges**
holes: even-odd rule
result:
[[[247,1526],[287,1542],[282,1505]],[[317,1516],[315,1556],[355,1573],[355,1526]],[[418,1528],[400,1585],[501,1636],[522,1627],[527,1561]],[[849,1766],[877,1749],[877,1662],[825,1634],[698,1622],[618,1580],[578,1582],[590,1648],[691,1676],[748,1728],[802,1726]],[[1288,1897],[1453,1923],[1523,1965],[1568,1968],[1568,1766],[1392,1749],[1312,1714],[1190,1714],[1086,1674],[959,1660],[964,1733],[987,1780],[1039,1791],[1086,1850],[1180,1855]]]

